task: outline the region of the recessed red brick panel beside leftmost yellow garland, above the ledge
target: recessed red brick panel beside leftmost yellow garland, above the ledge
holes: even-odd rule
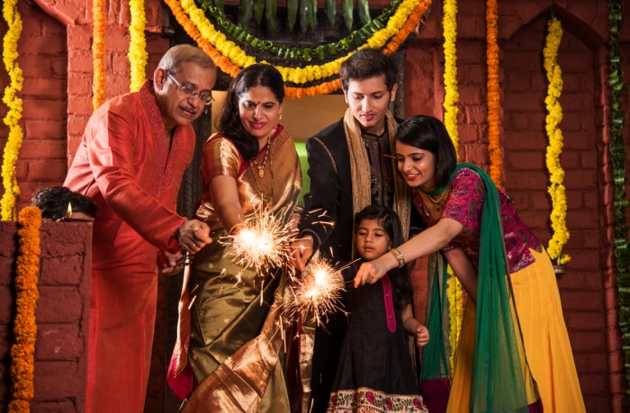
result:
[[[22,3],[18,4],[18,10],[23,20],[18,63],[25,79],[20,94],[25,139],[17,163],[17,177],[24,195],[22,199],[28,202],[38,187],[58,183],[66,175],[66,28],[42,13],[39,7]],[[6,22],[3,23],[4,35]],[[7,85],[8,78],[2,77],[3,86]],[[2,110],[5,108],[3,104]],[[3,128],[0,144],[4,147],[8,133],[4,123]]]

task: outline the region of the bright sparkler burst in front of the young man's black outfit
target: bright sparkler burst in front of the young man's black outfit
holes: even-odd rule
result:
[[[345,291],[341,269],[330,265],[326,259],[314,257],[296,281],[294,287],[295,310],[320,325],[336,310],[341,310],[341,292]]]

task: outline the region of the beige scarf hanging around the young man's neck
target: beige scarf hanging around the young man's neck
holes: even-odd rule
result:
[[[390,139],[390,153],[396,152],[394,148],[394,138],[396,130],[398,130],[398,122],[394,119],[391,112],[386,114],[387,131]],[[365,174],[370,170],[370,162],[367,159],[367,150],[361,139],[361,125],[356,121],[350,109],[347,109],[344,116],[344,129],[346,130],[347,148],[350,152],[350,175],[352,177],[352,210],[353,214],[363,210],[372,203],[372,183],[371,174]],[[411,197],[410,187],[402,179],[396,168],[396,163],[392,161],[392,170],[394,177],[394,201],[393,211],[401,218],[402,236],[405,240],[409,236],[410,231],[410,211]],[[353,226],[354,228],[354,226]],[[354,241],[353,241],[354,256]]]

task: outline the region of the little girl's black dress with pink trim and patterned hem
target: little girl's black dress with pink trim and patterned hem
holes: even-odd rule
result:
[[[347,269],[347,282],[360,265]],[[411,364],[398,300],[389,274],[358,288],[347,283],[347,333],[329,412],[428,412]]]

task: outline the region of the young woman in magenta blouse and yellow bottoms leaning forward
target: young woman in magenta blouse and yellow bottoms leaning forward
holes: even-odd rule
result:
[[[472,298],[447,411],[527,412],[528,405],[540,409],[536,400],[545,412],[585,411],[554,267],[514,203],[479,167],[456,165],[436,118],[405,121],[396,157],[428,229],[362,265],[355,283],[374,283],[407,261],[445,252]],[[451,255],[455,247],[465,256]]]

